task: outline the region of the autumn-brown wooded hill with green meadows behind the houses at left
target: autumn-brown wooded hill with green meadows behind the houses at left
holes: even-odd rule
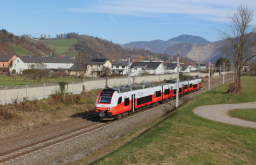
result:
[[[145,59],[160,58],[168,59],[167,54],[157,54],[145,49],[127,49],[121,45],[98,38],[97,36],[78,35],[77,33],[65,33],[56,35],[56,38],[41,35],[39,40],[33,40],[31,35],[14,36],[2,29],[0,33],[0,54],[17,55],[54,55],[65,54],[67,56],[77,56],[87,54],[89,58],[111,58],[136,59],[140,54]]]

